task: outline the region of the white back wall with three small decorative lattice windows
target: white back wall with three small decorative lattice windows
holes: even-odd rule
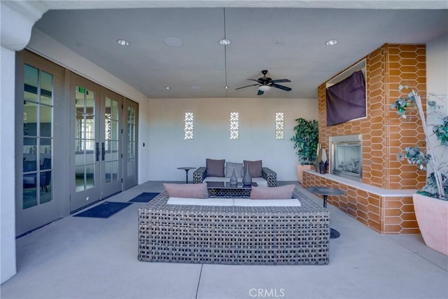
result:
[[[230,140],[231,111],[239,112],[238,140]],[[149,179],[183,181],[185,172],[177,167],[205,166],[206,158],[213,158],[262,160],[279,181],[295,181],[294,120],[316,119],[317,111],[317,99],[150,99]],[[195,113],[193,140],[183,139],[185,112]],[[274,138],[275,112],[285,113],[283,140]]]

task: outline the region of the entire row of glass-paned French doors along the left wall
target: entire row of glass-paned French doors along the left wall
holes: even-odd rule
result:
[[[138,103],[29,50],[15,75],[16,235],[137,185]]]

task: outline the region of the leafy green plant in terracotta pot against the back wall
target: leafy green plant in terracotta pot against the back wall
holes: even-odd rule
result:
[[[299,177],[300,183],[302,183],[303,171],[305,169],[314,169],[319,130],[317,120],[297,118],[295,123],[295,134],[291,138],[291,141],[294,141],[294,148],[296,149],[297,158],[299,160],[299,164],[297,165],[297,176]]]

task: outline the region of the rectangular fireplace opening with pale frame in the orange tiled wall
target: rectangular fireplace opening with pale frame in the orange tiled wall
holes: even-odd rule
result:
[[[330,137],[331,174],[361,181],[363,176],[363,148],[361,135]]]

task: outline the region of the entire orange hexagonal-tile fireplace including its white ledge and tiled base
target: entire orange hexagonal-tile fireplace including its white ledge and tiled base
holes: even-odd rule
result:
[[[426,102],[426,46],[385,44],[364,59],[366,118],[327,127],[326,82],[318,87],[319,141],[331,160],[330,137],[360,134],[362,179],[358,182],[307,171],[303,186],[345,190],[345,195],[330,196],[328,202],[378,232],[419,233],[412,193],[423,187],[426,172],[398,159],[398,153],[406,146],[424,147],[425,137],[416,116],[400,123],[390,107],[402,95],[400,84],[417,90]]]

